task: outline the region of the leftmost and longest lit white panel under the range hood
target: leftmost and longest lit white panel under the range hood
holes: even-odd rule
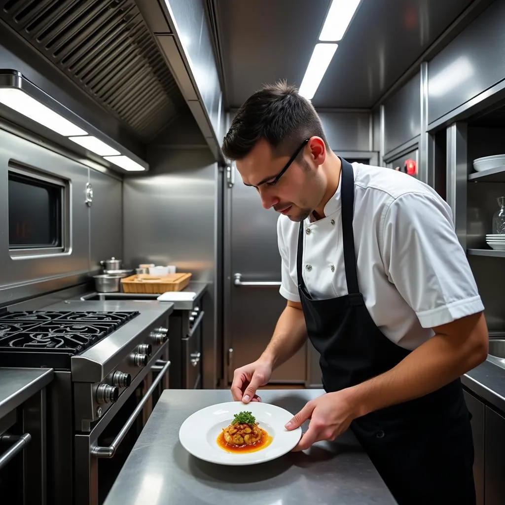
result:
[[[33,121],[40,123],[46,128],[56,131],[60,135],[87,135],[87,132],[45,105],[42,105],[21,89],[0,88],[0,103],[33,119]]]

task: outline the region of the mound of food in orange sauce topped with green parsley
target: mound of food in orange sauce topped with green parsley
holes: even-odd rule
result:
[[[261,450],[272,442],[272,437],[259,426],[250,411],[233,415],[233,421],[219,434],[218,445],[227,452]]]

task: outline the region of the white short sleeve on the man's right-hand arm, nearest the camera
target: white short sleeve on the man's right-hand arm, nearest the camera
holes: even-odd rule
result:
[[[386,275],[432,328],[484,310],[448,205],[435,195],[406,193],[394,199],[383,220]]]

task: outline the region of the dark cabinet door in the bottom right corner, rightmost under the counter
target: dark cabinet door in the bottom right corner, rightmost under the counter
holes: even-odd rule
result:
[[[503,505],[505,497],[505,418],[485,407],[485,504]]]

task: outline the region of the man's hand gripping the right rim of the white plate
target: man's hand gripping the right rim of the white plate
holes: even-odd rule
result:
[[[294,430],[310,419],[309,428],[301,436],[293,451],[308,449],[320,440],[334,440],[357,417],[354,406],[344,391],[326,393],[306,403],[288,423],[287,430]]]

